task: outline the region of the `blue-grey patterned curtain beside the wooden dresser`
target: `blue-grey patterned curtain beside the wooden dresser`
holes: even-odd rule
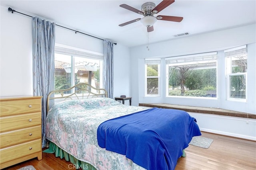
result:
[[[46,146],[46,100],[54,90],[55,23],[32,18],[33,38],[33,95],[42,98],[42,148]]]

